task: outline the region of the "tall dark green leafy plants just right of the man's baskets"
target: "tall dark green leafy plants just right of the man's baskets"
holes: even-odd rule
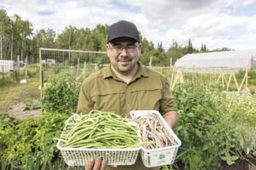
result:
[[[193,84],[178,86],[173,91],[179,114],[175,131],[183,140],[177,160],[184,169],[214,169],[221,160],[232,164],[243,151],[243,131],[224,109],[216,107],[212,95],[218,93],[216,89]]]

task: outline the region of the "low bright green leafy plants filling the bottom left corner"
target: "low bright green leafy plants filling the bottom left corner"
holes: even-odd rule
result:
[[[17,125],[8,116],[0,116],[2,166],[39,169],[29,167],[45,166],[60,154],[54,138],[60,136],[67,114],[45,112],[38,119],[26,119]]]

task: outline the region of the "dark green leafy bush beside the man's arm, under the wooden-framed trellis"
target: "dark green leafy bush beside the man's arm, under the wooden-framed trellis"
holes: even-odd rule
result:
[[[64,75],[51,80],[43,89],[44,111],[75,112],[78,105],[79,88],[74,77]]]

